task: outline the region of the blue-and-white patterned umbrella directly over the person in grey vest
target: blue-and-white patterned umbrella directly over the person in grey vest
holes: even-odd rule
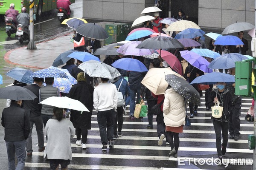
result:
[[[58,70],[57,68],[46,68],[39,71],[35,71],[31,77],[38,77],[38,78],[44,78],[44,77],[59,77],[59,78],[66,78],[67,74],[63,71]]]

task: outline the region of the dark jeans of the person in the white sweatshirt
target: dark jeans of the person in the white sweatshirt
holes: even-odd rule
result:
[[[114,119],[116,112],[114,109],[108,111],[98,111],[97,121],[99,124],[99,134],[103,145],[108,144],[108,141],[113,141],[114,135]],[[106,133],[107,127],[107,133]]]

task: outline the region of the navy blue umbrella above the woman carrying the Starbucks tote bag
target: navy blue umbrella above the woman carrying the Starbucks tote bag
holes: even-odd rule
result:
[[[220,72],[212,72],[196,77],[190,84],[213,85],[217,82],[234,83],[235,76]]]

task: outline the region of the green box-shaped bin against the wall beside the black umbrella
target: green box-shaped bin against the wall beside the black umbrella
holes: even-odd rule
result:
[[[111,23],[106,24],[105,30],[109,36],[105,40],[105,44],[108,45],[113,42],[124,41],[130,32],[130,26],[126,23]]]

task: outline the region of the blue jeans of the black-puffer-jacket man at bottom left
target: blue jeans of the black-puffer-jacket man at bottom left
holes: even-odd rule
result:
[[[15,154],[17,156],[16,170],[23,170],[26,160],[26,140],[6,141],[9,170],[15,170]]]

